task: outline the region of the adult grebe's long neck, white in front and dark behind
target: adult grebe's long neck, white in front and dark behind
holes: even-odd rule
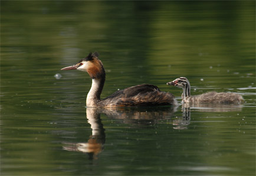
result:
[[[91,89],[87,94],[86,106],[97,107],[100,101],[100,94],[103,90],[105,79],[92,79]]]

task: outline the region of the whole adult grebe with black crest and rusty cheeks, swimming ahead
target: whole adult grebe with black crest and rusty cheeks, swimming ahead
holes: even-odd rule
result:
[[[77,69],[87,72],[92,79],[91,89],[87,94],[87,107],[113,107],[113,106],[178,106],[175,96],[171,93],[161,92],[157,86],[140,84],[119,90],[105,99],[100,99],[103,90],[106,73],[102,62],[98,59],[99,53],[89,53],[73,66],[64,67],[61,70]]]

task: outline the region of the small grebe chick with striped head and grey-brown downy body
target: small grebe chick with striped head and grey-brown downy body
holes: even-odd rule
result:
[[[186,77],[179,77],[172,82],[166,83],[167,85],[172,85],[180,87],[183,89],[182,102],[183,103],[241,103],[244,101],[241,95],[237,93],[216,93],[207,92],[199,94],[196,96],[191,96],[191,86]]]

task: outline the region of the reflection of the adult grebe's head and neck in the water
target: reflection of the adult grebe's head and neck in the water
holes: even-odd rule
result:
[[[92,129],[92,134],[87,143],[68,143],[67,146],[63,147],[63,149],[67,151],[80,151],[87,153],[89,155],[89,159],[93,160],[97,159],[99,153],[103,151],[106,136],[103,124],[101,123],[99,109],[87,108],[86,115],[88,123],[91,124]]]

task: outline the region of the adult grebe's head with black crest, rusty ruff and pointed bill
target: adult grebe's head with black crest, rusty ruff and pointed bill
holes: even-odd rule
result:
[[[98,59],[99,53],[89,53],[89,55],[81,59],[78,63],[72,66],[64,67],[61,70],[80,70],[87,72],[92,79],[100,78],[105,75],[105,70],[102,62]]]

